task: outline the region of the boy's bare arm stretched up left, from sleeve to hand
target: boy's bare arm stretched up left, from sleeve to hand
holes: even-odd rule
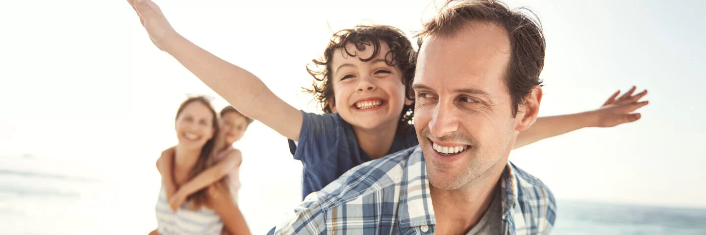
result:
[[[150,0],[128,0],[152,42],[169,53],[241,114],[261,121],[291,140],[299,140],[302,115],[243,68],[229,64],[174,31]]]

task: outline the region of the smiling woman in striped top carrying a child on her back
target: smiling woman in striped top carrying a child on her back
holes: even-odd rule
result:
[[[168,164],[169,174],[162,173],[162,181],[173,181],[175,188],[206,169],[224,162],[239,159],[240,152],[224,149],[220,125],[215,110],[204,97],[191,97],[181,103],[176,123],[179,144],[174,147],[173,164]],[[167,157],[169,159],[171,157]],[[160,167],[158,167],[160,168]],[[185,196],[177,210],[170,210],[167,190],[160,189],[157,200],[157,229],[150,234],[249,234],[237,205],[232,200],[229,176]],[[225,227],[224,227],[225,226]]]

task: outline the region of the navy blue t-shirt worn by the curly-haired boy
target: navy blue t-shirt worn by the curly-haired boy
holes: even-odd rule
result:
[[[371,158],[360,148],[353,128],[338,114],[310,114],[302,111],[299,141],[289,140],[294,159],[304,165],[302,198],[338,179],[349,169]],[[389,154],[419,145],[417,133],[409,128],[404,136],[395,134]]]

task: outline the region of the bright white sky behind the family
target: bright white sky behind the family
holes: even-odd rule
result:
[[[506,2],[542,20],[540,116],[596,109],[631,85],[650,92],[635,123],[542,140],[510,160],[559,200],[706,207],[706,3]],[[307,112],[317,110],[301,92],[312,81],[304,66],[323,52],[331,30],[379,23],[413,35],[434,13],[427,0],[156,3],[181,35]],[[152,201],[154,161],[177,143],[179,103],[203,94],[216,109],[227,105],[154,47],[126,1],[4,1],[0,32],[3,167],[127,183]],[[249,220],[299,202],[301,164],[286,138],[256,121],[236,146],[244,153],[239,200],[249,202],[242,208]]]

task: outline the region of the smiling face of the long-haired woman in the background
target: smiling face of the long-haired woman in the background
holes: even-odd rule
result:
[[[213,114],[201,102],[187,104],[174,125],[179,145],[187,149],[201,150],[206,141],[213,138]]]

